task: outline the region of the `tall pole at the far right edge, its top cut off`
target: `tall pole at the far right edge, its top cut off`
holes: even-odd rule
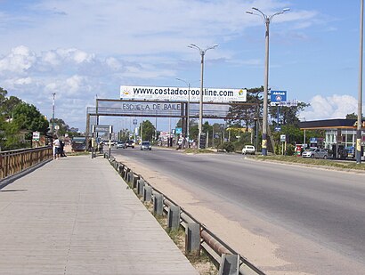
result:
[[[359,68],[359,95],[356,127],[356,163],[361,164],[361,125],[362,125],[362,51],[363,51],[363,26],[364,26],[364,1],[361,0],[360,13],[360,68]]]

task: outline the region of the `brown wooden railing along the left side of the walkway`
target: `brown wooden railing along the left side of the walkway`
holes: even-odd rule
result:
[[[0,151],[0,181],[53,158],[52,147]]]

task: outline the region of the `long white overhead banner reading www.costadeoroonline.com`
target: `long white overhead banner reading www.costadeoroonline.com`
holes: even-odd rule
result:
[[[120,86],[121,100],[200,101],[200,88]],[[246,101],[246,89],[204,88],[203,101]]]

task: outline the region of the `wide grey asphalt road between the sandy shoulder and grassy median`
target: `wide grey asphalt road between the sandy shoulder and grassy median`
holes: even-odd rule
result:
[[[299,236],[260,229],[280,245],[281,256],[299,271],[365,273],[364,174],[256,162],[240,155],[191,156],[158,149],[113,152],[119,153],[168,174],[187,189],[199,187],[194,191],[205,190],[272,228]],[[210,203],[214,206],[215,201]],[[248,226],[257,229],[259,225]],[[305,249],[316,255],[300,252]]]

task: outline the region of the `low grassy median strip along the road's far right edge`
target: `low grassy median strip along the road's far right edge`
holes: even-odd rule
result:
[[[328,168],[338,168],[345,170],[359,170],[365,171],[365,164],[356,164],[354,161],[337,161],[328,159],[313,159],[313,158],[301,158],[296,156],[257,156],[256,159],[268,160],[268,161],[280,161],[295,164],[304,164],[310,166],[323,166]]]

